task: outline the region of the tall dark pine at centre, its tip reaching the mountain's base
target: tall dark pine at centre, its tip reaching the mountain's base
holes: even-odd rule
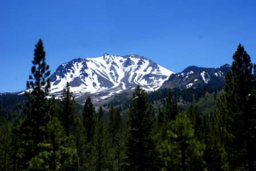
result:
[[[153,117],[145,91],[137,86],[129,107],[129,136],[126,144],[128,170],[155,170],[154,146],[150,137]]]

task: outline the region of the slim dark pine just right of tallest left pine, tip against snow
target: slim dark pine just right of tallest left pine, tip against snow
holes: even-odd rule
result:
[[[70,133],[74,132],[75,113],[77,112],[76,102],[73,97],[73,92],[70,91],[69,82],[66,83],[66,86],[63,89],[61,107],[62,111],[59,119],[61,120],[61,123],[65,128],[66,135],[68,136]]]

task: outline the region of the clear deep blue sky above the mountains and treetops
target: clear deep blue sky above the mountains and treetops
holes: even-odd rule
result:
[[[256,1],[1,0],[0,92],[26,88],[42,38],[51,73],[74,58],[138,54],[174,72],[232,62],[241,43],[256,62]]]

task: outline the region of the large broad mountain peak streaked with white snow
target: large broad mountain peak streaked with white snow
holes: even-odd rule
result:
[[[79,97],[90,93],[105,99],[115,93],[131,91],[138,84],[146,91],[160,88],[174,72],[139,55],[73,59],[57,68],[51,79],[51,93],[59,95],[66,82]]]

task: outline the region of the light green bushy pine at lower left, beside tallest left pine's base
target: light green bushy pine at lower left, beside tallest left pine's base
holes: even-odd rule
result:
[[[77,150],[66,146],[66,133],[56,118],[46,125],[47,142],[39,143],[41,152],[29,162],[29,170],[70,170],[77,166]]]

